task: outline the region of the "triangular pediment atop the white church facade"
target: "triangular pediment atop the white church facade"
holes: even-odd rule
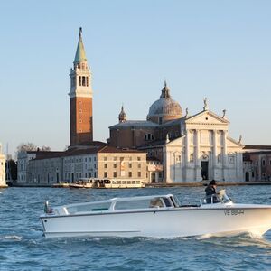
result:
[[[229,121],[225,117],[220,117],[209,110],[187,118],[185,123],[186,125],[229,125]]]

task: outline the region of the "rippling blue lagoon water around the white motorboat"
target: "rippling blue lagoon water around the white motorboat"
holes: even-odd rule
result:
[[[197,203],[204,187],[137,190],[8,188],[0,193],[0,270],[271,270],[271,230],[263,238],[51,238],[39,216],[51,205],[173,193]],[[240,203],[271,204],[271,186],[230,186]]]

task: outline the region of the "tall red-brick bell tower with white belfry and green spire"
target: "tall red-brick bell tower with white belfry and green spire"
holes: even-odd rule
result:
[[[70,69],[70,145],[93,141],[91,73],[79,28],[79,42]]]

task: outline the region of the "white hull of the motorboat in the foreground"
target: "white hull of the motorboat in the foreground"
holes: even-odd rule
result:
[[[176,238],[263,235],[271,228],[271,208],[175,208],[171,210],[99,211],[41,217],[46,238]]]

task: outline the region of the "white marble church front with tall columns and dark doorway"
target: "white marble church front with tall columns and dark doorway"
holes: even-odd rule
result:
[[[229,121],[204,108],[180,120],[181,137],[164,145],[165,182],[242,182],[242,148],[228,135]]]

